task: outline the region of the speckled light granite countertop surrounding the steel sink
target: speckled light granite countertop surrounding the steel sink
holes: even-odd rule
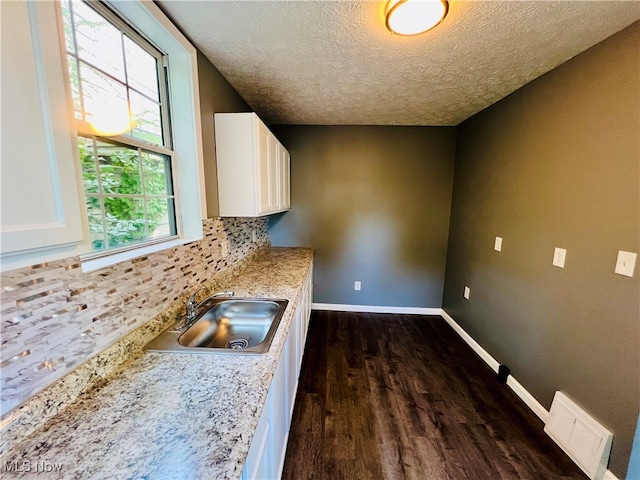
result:
[[[16,444],[1,476],[240,478],[312,259],[308,249],[272,248],[230,285],[236,296],[289,300],[268,353],[145,352]],[[54,464],[62,470],[49,471]]]

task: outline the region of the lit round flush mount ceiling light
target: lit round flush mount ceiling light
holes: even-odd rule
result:
[[[444,20],[447,0],[389,0],[385,23],[396,35],[419,35]]]

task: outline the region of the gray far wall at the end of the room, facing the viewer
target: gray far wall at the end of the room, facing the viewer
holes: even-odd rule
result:
[[[315,249],[314,302],[440,307],[455,128],[271,128],[291,153],[292,208],[270,238]]]

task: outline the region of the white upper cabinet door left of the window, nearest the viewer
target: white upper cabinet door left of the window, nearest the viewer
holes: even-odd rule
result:
[[[0,2],[1,265],[83,253],[84,195],[57,2]]]

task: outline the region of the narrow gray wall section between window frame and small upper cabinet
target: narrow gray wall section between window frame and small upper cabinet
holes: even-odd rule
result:
[[[213,218],[220,214],[213,114],[217,112],[250,112],[251,108],[200,52],[198,52],[198,81],[200,82],[200,116],[204,148],[207,218]]]

